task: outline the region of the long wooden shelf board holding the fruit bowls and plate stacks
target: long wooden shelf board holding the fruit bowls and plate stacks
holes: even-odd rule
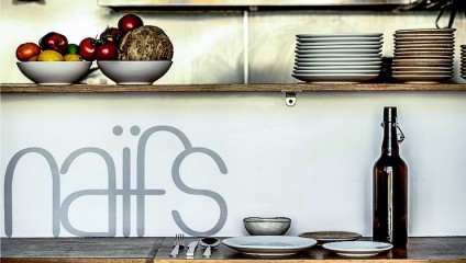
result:
[[[466,84],[342,83],[342,84],[166,84],[166,85],[36,85],[0,84],[0,93],[124,93],[124,92],[351,92],[466,91]]]

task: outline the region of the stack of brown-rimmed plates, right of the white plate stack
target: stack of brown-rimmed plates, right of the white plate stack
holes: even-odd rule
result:
[[[454,28],[399,30],[395,33],[393,78],[437,83],[453,77]]]

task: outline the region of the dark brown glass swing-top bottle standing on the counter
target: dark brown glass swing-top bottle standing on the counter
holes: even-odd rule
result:
[[[396,107],[384,108],[382,127],[381,156],[374,164],[373,240],[389,242],[393,247],[406,247],[408,167],[399,152]]]

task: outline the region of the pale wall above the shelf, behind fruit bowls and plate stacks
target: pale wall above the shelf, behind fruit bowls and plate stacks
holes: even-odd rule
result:
[[[0,43],[2,70],[0,82],[30,82],[15,67],[14,50],[24,42],[38,42],[51,31],[65,34],[70,43],[100,34],[107,25],[115,26],[121,13],[99,8],[96,0],[68,0],[46,4],[12,4],[1,0]],[[162,27],[175,46],[174,65],[156,83],[243,83],[244,48],[247,48],[249,83],[292,83],[295,35],[302,33],[384,33],[384,56],[392,57],[393,33],[400,28],[435,27],[436,13],[362,12],[258,12],[249,13],[244,27],[243,14],[165,13],[141,16],[146,24]],[[445,24],[442,21],[441,24]],[[459,45],[466,43],[466,19],[457,15],[455,82],[459,78]],[[189,30],[188,30],[189,28]],[[248,44],[244,45],[247,33]],[[10,66],[8,66],[10,65]],[[102,75],[97,75],[112,83]]]

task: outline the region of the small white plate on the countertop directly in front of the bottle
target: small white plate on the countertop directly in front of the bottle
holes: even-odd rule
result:
[[[370,256],[391,250],[390,243],[373,241],[341,241],[322,244],[322,248],[348,256]]]

